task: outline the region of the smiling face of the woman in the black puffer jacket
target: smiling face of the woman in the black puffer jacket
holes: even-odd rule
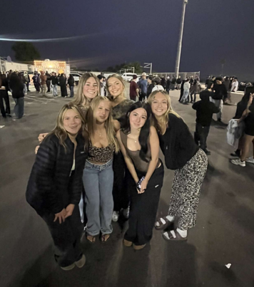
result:
[[[80,115],[75,110],[69,109],[64,113],[64,129],[71,135],[76,135],[81,129],[82,121]]]

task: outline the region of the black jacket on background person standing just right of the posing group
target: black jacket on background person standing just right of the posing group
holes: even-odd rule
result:
[[[209,97],[213,95],[213,92],[209,90],[203,90],[200,93],[200,99],[194,103],[192,108],[197,111],[197,118],[195,122],[199,123],[203,127],[210,127],[212,122],[213,113],[219,113],[220,109],[210,102]]]

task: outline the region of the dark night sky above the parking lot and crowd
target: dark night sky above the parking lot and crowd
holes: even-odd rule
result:
[[[34,43],[41,58],[105,69],[129,61],[152,62],[157,72],[175,70],[182,0],[1,0],[1,37],[61,38]],[[180,72],[201,78],[224,72],[254,80],[254,1],[189,0]],[[0,41],[0,56],[14,53]]]

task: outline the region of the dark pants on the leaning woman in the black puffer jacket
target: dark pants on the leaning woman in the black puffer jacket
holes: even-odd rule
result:
[[[55,214],[44,214],[41,217],[46,221],[54,240],[55,259],[59,266],[66,267],[81,259],[83,252],[80,239],[83,225],[78,206],[75,206],[73,214],[61,224],[59,220],[54,222]]]

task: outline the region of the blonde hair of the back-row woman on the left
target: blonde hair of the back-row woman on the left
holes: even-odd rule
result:
[[[72,103],[74,105],[83,105],[84,102],[85,102],[85,105],[89,105],[90,104],[88,102],[86,96],[83,94],[83,86],[86,85],[86,82],[87,82],[88,78],[94,78],[96,80],[96,83],[98,85],[98,95],[101,95],[101,88],[100,88],[101,85],[100,85],[100,81],[98,80],[96,75],[94,75],[93,73],[84,73],[81,76],[81,78],[79,79],[78,90],[77,90],[75,98],[72,100]],[[96,97],[98,95],[96,95]]]

